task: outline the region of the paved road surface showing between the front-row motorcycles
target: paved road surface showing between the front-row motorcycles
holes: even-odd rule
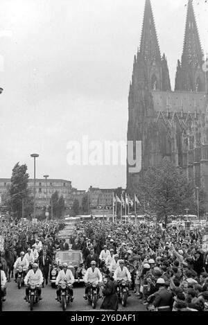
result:
[[[11,279],[10,283],[6,284],[7,295],[6,301],[3,303],[2,311],[28,311],[30,310],[29,304],[24,300],[25,296],[25,287],[21,289],[17,288],[17,283]],[[89,305],[89,302],[83,298],[84,286],[75,284],[73,288],[74,301],[72,304],[67,306],[67,311],[77,311],[77,310],[93,310],[92,306]],[[56,293],[55,289],[51,288],[51,285],[45,286],[42,288],[42,300],[38,305],[34,306],[33,310],[37,311],[62,311],[60,303],[55,300]],[[96,310],[99,310],[102,304],[102,300],[98,300]],[[119,304],[119,311],[145,311],[146,306],[139,303],[137,297],[134,294],[131,297],[128,297],[127,304],[125,308]]]

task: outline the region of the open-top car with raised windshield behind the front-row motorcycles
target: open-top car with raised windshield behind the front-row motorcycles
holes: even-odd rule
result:
[[[83,263],[83,254],[81,251],[77,250],[66,250],[66,251],[57,251],[55,252],[55,263],[57,263],[58,268],[62,268],[62,264],[66,262],[69,266],[68,268],[71,270],[75,283],[83,282],[83,277],[85,275],[85,266]],[[52,272],[51,267],[51,272]],[[54,272],[55,273],[55,272]],[[57,275],[56,275],[57,276]],[[55,276],[55,277],[56,277]],[[51,276],[50,276],[51,277]],[[51,279],[55,283],[55,279]],[[51,282],[52,284],[52,282]]]

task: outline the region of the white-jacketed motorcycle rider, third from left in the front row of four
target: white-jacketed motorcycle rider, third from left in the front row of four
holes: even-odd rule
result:
[[[103,277],[102,277],[101,271],[98,269],[98,267],[96,267],[96,261],[92,261],[91,267],[89,267],[87,269],[87,272],[85,273],[85,276],[84,276],[84,281],[85,281],[86,287],[85,287],[85,295],[83,295],[83,297],[85,298],[85,300],[87,300],[87,294],[88,294],[89,288],[90,288],[90,286],[88,285],[87,282],[90,282],[90,283],[102,282],[102,279],[103,279]],[[100,291],[99,286],[97,285],[96,288],[97,288],[97,292],[99,294],[99,291]]]

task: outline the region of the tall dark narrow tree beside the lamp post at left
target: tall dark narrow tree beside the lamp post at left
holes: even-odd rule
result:
[[[22,202],[24,200],[24,212],[27,214],[33,210],[33,197],[28,188],[29,175],[26,173],[26,164],[19,165],[19,162],[12,169],[11,185],[9,189],[9,204],[15,218],[19,219],[22,215]]]

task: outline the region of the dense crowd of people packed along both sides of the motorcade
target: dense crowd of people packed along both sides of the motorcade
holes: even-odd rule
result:
[[[42,285],[44,281],[47,284],[55,250],[69,249],[58,236],[64,221],[0,226],[5,247],[14,249],[16,254],[15,268],[20,260],[24,259],[27,267],[32,262],[34,273],[39,268],[42,271]],[[146,305],[150,311],[208,310],[208,254],[202,251],[205,229],[185,231],[106,220],[90,220],[84,227],[85,231],[71,236],[71,249],[82,251],[87,276],[92,276],[96,268],[101,281],[102,272],[105,288],[101,308],[117,310],[116,281],[127,279],[138,304]],[[67,266],[63,265],[66,272]],[[87,290],[86,287],[85,299]]]

